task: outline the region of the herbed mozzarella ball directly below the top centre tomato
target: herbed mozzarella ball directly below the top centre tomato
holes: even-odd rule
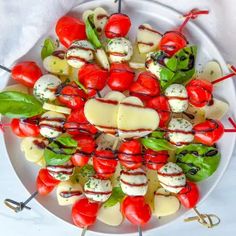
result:
[[[133,55],[133,46],[126,38],[114,38],[107,44],[110,62],[129,61]]]

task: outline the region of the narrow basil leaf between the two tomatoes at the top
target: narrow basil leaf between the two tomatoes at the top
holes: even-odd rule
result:
[[[87,18],[87,20],[85,21],[85,26],[86,26],[86,35],[90,43],[92,43],[95,48],[101,48],[102,44],[98,38],[98,33],[91,17]]]

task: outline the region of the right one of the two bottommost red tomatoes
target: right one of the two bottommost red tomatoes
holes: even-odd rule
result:
[[[128,196],[122,202],[121,212],[134,225],[145,225],[152,216],[150,206],[143,196]]]

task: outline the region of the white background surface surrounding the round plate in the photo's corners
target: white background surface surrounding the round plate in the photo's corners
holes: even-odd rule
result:
[[[50,25],[56,18],[65,14],[73,5],[81,1],[76,0],[0,0],[0,63],[11,65],[14,60],[29,50],[39,34],[34,34],[31,41],[23,50],[17,50],[17,45],[22,44],[22,38],[29,37],[28,32],[19,32],[21,25],[37,20],[41,24]],[[199,18],[199,24],[207,32],[221,50],[223,56],[230,63],[236,63],[236,6],[235,0],[161,0],[177,10],[186,12],[193,7],[208,8],[211,14],[207,17]],[[30,8],[30,12],[26,9]],[[45,10],[52,12],[44,19],[40,18],[40,13]],[[34,14],[38,18],[32,18]],[[57,16],[55,18],[55,16]],[[17,22],[17,23],[16,23]],[[10,46],[9,46],[10,45]],[[4,57],[3,57],[4,55]],[[0,73],[0,80],[5,75]],[[2,135],[2,134],[0,134]],[[2,137],[1,137],[2,138]],[[227,145],[227,144],[226,144]],[[24,200],[28,193],[21,185],[10,165],[4,144],[0,143],[0,235],[7,236],[28,236],[28,235],[49,235],[76,236],[80,232],[74,226],[63,223],[40,205],[32,201],[31,211],[25,210],[15,214],[3,205],[6,197]],[[152,233],[144,235],[189,235],[199,236],[222,236],[236,235],[236,150],[231,163],[222,178],[221,182],[209,196],[209,198],[199,207],[202,212],[215,213],[221,218],[221,224],[214,229],[206,229],[196,223],[183,223],[180,219],[169,227],[165,227]],[[87,235],[95,235],[89,233]]]

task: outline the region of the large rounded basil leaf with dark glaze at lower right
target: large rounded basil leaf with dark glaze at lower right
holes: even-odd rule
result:
[[[188,180],[199,182],[211,176],[220,162],[220,153],[215,147],[203,144],[190,144],[177,149],[176,164]]]

